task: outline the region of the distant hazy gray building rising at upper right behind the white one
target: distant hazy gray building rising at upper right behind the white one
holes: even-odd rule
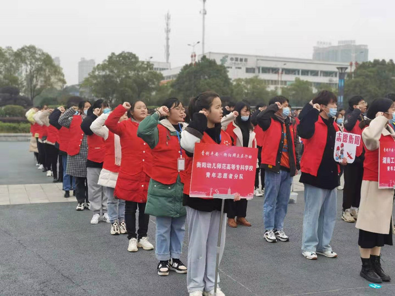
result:
[[[338,45],[317,42],[314,46],[313,60],[337,63],[366,62],[369,50],[367,45],[356,44],[355,40],[338,41]]]

